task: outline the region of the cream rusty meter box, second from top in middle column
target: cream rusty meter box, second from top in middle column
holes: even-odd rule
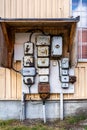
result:
[[[47,57],[47,56],[49,56],[49,47],[38,46],[38,57]]]

